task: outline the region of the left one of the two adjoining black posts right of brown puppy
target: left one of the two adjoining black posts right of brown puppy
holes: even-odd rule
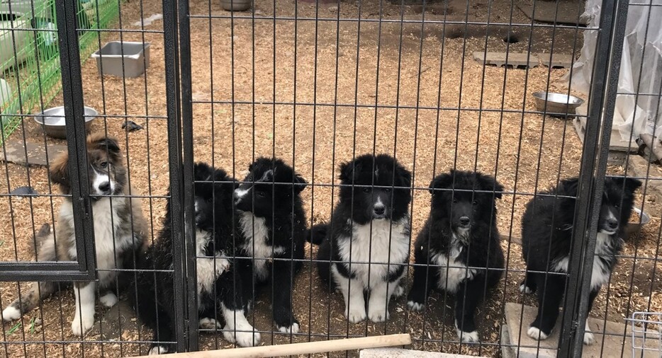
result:
[[[168,162],[170,168],[170,210],[172,213],[172,263],[174,277],[175,334],[177,351],[186,347],[186,293],[184,268],[184,208],[181,175],[181,122],[179,105],[179,53],[177,43],[177,1],[163,0],[165,80],[168,116]]]

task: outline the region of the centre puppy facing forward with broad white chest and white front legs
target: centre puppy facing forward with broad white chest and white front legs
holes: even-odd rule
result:
[[[366,154],[340,166],[340,200],[332,222],[311,230],[318,273],[344,296],[349,322],[388,319],[409,258],[411,173],[392,156]],[[322,240],[320,232],[326,232]],[[368,296],[367,314],[366,297]]]

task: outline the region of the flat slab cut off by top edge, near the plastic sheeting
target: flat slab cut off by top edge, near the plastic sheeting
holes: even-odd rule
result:
[[[519,4],[518,8],[528,18],[543,23],[567,23],[573,25],[587,25],[588,19],[583,18],[583,1],[535,1],[532,5]],[[535,10],[535,11],[534,11]]]

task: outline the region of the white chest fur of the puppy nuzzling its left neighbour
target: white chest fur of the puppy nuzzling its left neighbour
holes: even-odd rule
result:
[[[269,228],[267,228],[267,220],[263,217],[254,216],[252,212],[241,212],[239,223],[245,238],[242,250],[253,258],[257,279],[264,281],[269,277],[267,259],[284,253],[285,248],[268,244]]]

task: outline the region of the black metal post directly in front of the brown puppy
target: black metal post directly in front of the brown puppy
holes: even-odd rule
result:
[[[55,1],[57,18],[57,41],[60,45],[60,69],[62,72],[62,100],[67,128],[67,150],[69,153],[69,177],[71,178],[74,232],[79,268],[87,272],[89,279],[96,278],[96,255],[94,248],[94,224],[89,199],[87,173],[86,129],[83,109],[83,82],[76,31],[76,8],[78,0]],[[85,183],[81,185],[81,183]]]

